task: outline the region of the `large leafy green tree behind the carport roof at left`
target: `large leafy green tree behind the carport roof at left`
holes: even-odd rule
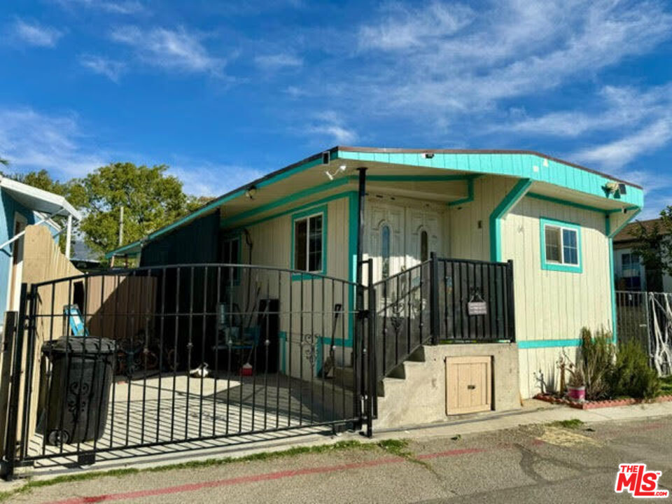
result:
[[[167,166],[116,162],[69,183],[69,200],[81,209],[85,243],[103,255],[118,246],[120,208],[124,207],[123,244],[145,237],[188,212],[182,183]]]

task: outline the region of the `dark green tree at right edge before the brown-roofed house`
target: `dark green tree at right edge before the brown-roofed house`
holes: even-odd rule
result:
[[[660,212],[660,220],[645,226],[639,222],[631,234],[633,247],[646,269],[647,290],[662,290],[662,273],[672,275],[672,205]]]

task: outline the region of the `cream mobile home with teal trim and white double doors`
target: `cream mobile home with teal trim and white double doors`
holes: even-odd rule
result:
[[[643,207],[643,190],[535,152],[339,146],[232,190],[109,257],[140,255],[143,266],[250,262],[356,281],[360,201],[360,245],[374,281],[431,253],[483,261],[477,267],[512,260],[515,342],[494,332],[482,346],[441,346],[441,359],[492,359],[495,402],[507,397],[495,409],[538,392],[541,375],[551,384],[561,352],[574,356],[582,327],[613,330],[612,238]],[[449,270],[443,274],[442,288],[454,297]],[[475,294],[458,295],[458,309]],[[464,341],[451,332],[442,339]],[[347,346],[347,337],[336,344]]]

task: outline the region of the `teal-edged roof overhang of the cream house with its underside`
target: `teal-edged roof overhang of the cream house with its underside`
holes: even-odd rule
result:
[[[338,169],[340,166],[344,166],[343,171]],[[214,211],[219,210],[223,225],[231,228],[279,214],[302,202],[314,201],[318,193],[324,198],[356,190],[359,167],[367,167],[369,192],[406,190],[448,204],[468,201],[470,180],[475,177],[498,175],[531,179],[533,195],[570,202],[605,214],[643,207],[640,186],[533,151],[337,146],[232,190],[192,214],[106,256],[137,254],[146,242]],[[626,185],[625,194],[608,190],[608,185],[614,182]],[[251,187],[256,189],[255,195],[248,197],[246,193]]]

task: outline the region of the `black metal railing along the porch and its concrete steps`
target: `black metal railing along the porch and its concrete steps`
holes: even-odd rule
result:
[[[514,342],[513,263],[436,258],[374,285],[377,374],[423,344]]]

